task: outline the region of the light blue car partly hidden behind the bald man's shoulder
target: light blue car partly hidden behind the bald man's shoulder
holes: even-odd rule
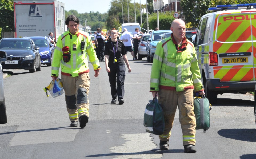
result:
[[[157,30],[152,31],[149,39],[147,39],[147,61],[153,62],[153,57],[155,54],[155,48],[157,43],[161,40],[163,33],[172,32],[171,30]]]

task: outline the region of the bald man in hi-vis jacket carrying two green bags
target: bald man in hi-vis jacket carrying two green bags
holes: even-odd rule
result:
[[[152,64],[150,92],[159,97],[163,108],[165,129],[160,149],[169,148],[169,138],[176,108],[179,109],[184,152],[195,153],[196,120],[193,112],[193,89],[204,94],[194,45],[185,37],[185,23],[175,19],[171,24],[171,37],[157,44]]]

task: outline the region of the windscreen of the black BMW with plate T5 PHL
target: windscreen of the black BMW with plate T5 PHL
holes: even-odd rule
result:
[[[31,44],[25,40],[3,40],[0,49],[31,49]]]

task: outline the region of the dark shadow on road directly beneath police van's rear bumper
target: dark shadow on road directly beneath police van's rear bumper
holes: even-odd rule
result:
[[[230,99],[230,98],[218,98],[217,104],[213,106],[239,106],[239,107],[254,107],[254,101],[243,99]]]

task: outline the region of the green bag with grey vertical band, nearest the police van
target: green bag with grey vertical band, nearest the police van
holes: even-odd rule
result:
[[[194,98],[194,113],[197,126],[195,129],[203,129],[204,132],[210,128],[211,104],[205,95]]]

